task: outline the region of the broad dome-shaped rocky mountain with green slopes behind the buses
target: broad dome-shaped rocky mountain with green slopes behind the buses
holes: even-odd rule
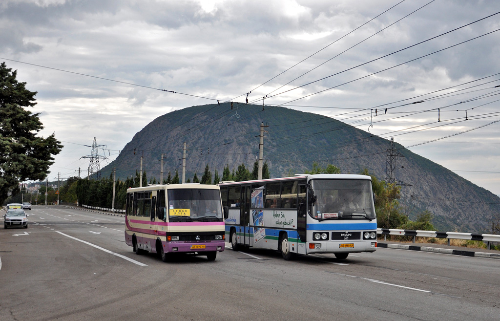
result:
[[[116,167],[124,180],[139,170],[147,178],[160,176],[163,153],[166,179],[182,172],[182,146],[186,142],[186,180],[198,178],[208,164],[216,169],[236,168],[243,163],[251,171],[258,156],[259,126],[264,123],[263,154],[271,177],[301,173],[317,162],[334,164],[342,173],[370,174],[385,179],[390,141],[370,135],[330,117],[285,107],[221,103],[192,106],[157,117],[125,145],[120,155],[102,168],[102,176]],[[424,209],[434,214],[439,230],[489,232],[493,216],[500,210],[500,198],[429,159],[393,143],[397,166],[394,177],[404,182],[400,204],[413,218]],[[402,157],[404,156],[404,157]]]

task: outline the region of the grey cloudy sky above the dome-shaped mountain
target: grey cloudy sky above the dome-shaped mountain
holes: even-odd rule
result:
[[[40,134],[64,144],[49,179],[86,170],[94,137],[102,167],[154,118],[251,91],[394,137],[500,194],[498,12],[496,0],[2,0],[0,61],[38,92]]]

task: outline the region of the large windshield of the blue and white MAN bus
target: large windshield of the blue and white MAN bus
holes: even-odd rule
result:
[[[316,201],[309,215],[325,219],[375,219],[369,180],[313,179]]]

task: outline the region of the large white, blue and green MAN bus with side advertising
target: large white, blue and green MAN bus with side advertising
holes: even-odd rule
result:
[[[286,260],[311,253],[344,259],[376,250],[370,176],[301,174],[218,185],[234,250],[276,249]]]

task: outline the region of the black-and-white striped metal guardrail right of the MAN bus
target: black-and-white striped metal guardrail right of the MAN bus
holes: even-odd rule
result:
[[[450,239],[466,239],[466,240],[478,240],[487,243],[488,249],[490,248],[489,242],[500,242],[500,235],[496,234],[478,234],[478,233],[459,233],[459,232],[440,232],[431,230],[411,230],[411,229],[395,229],[395,228],[377,228],[377,234],[384,235],[384,240],[387,235],[397,235],[397,236],[412,236],[413,243],[415,238],[418,237],[435,237],[435,238],[447,238],[448,245]]]

